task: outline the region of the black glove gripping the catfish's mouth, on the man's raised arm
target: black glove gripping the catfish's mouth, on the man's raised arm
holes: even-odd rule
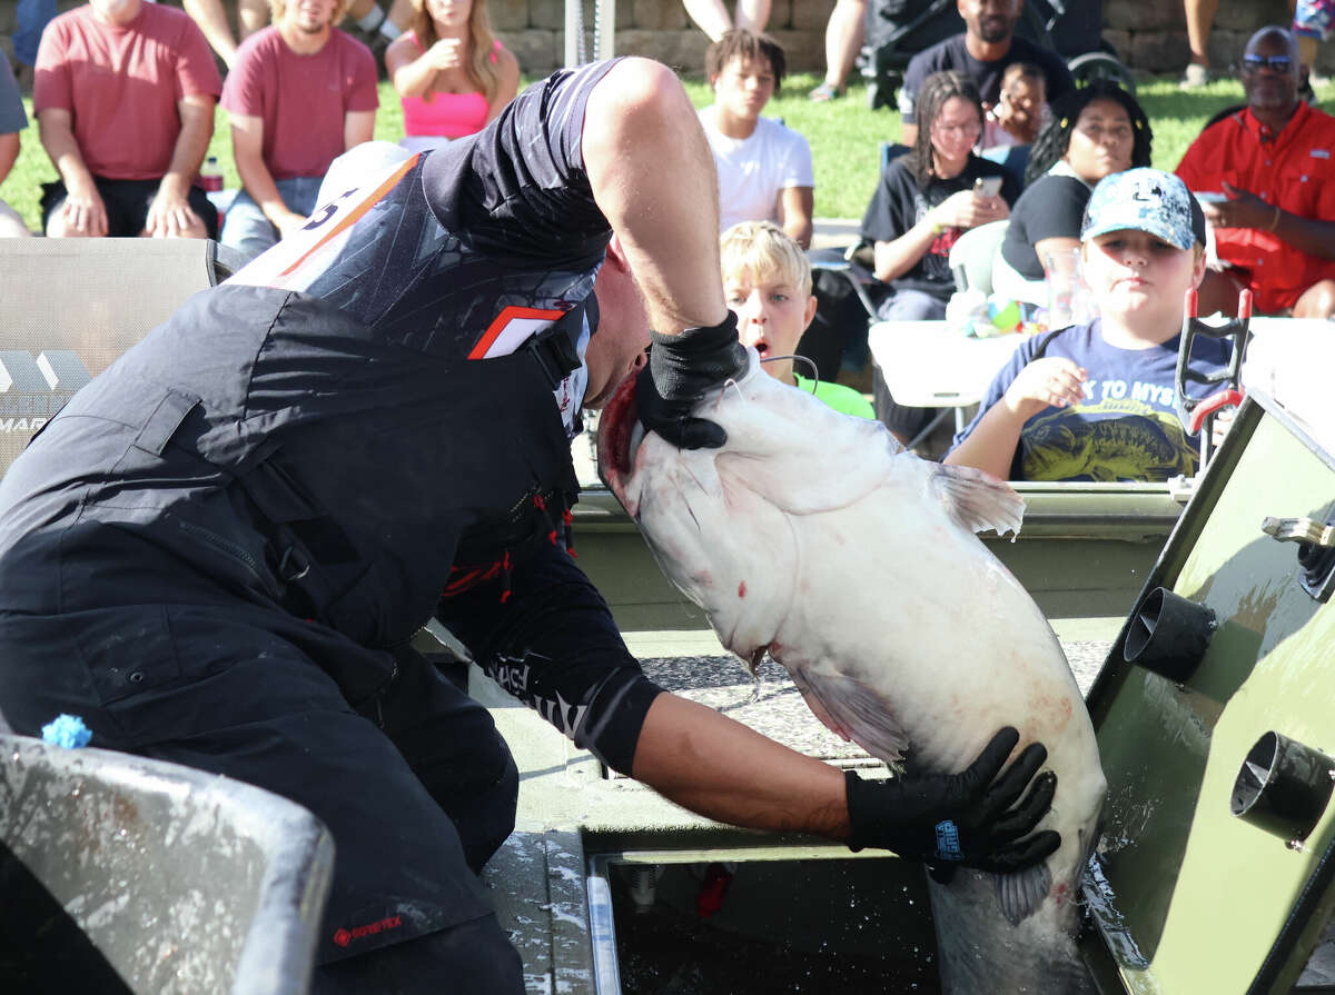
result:
[[[714,421],[690,417],[690,409],[705,391],[746,369],[737,315],[729,311],[721,323],[681,335],[650,335],[649,364],[635,381],[639,421],[678,449],[717,449],[728,433]]]

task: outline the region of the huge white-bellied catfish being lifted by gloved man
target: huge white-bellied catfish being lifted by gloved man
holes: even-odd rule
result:
[[[910,772],[956,772],[1003,726],[1048,748],[1040,828],[1061,848],[1021,874],[932,883],[952,995],[1084,992],[1077,883],[1105,783],[1093,728],[1037,606],[975,535],[1017,532],[1020,496],[981,471],[904,452],[760,369],[693,412],[720,449],[643,433],[634,383],[599,423],[603,477],[663,572],[754,670],[768,652],[830,730]]]

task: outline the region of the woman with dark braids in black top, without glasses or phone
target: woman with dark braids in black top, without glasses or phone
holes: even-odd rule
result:
[[[1043,261],[1080,247],[1089,193],[1109,173],[1149,165],[1152,139],[1145,112],[1115,83],[1095,80],[1060,97],[1029,151],[1024,193],[992,269],[996,291],[1047,304]]]

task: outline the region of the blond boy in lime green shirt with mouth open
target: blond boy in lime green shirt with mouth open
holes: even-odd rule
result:
[[[737,335],[760,353],[761,369],[845,415],[876,417],[872,403],[857,391],[809,380],[793,368],[797,343],[816,315],[812,264],[798,244],[770,221],[742,221],[724,232],[720,256]]]

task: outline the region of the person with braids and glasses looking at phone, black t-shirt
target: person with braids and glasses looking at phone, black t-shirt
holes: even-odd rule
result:
[[[1007,217],[1020,192],[1005,169],[973,155],[983,133],[983,100],[972,80],[953,71],[932,73],[916,109],[913,148],[886,167],[862,217],[876,279],[890,289],[878,311],[888,321],[945,317],[955,292],[951,247],[969,228]],[[980,179],[991,189],[976,191]],[[930,419],[930,408],[894,404],[880,371],[874,385],[877,415],[901,439]]]

